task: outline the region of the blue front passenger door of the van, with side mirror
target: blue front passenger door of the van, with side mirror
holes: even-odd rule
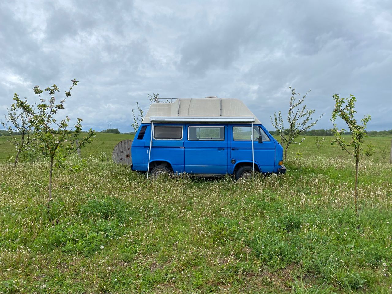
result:
[[[254,162],[260,165],[261,172],[273,172],[275,165],[275,143],[270,134],[261,125],[254,125]],[[230,142],[230,157],[236,162],[252,162],[251,125],[233,125]],[[259,143],[259,137],[261,142]],[[233,172],[234,165],[230,162],[229,171]]]

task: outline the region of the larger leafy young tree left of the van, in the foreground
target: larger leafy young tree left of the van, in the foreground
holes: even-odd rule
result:
[[[39,86],[33,88],[34,94],[38,95],[40,102],[37,105],[30,105],[27,100],[20,100],[18,95],[15,94],[15,103],[12,105],[12,111],[20,110],[24,111],[31,117],[30,123],[34,129],[34,136],[38,142],[38,148],[42,154],[50,159],[49,165],[49,197],[48,200],[52,199],[52,174],[54,167],[66,167],[65,160],[67,156],[73,154],[78,148],[85,147],[88,143],[91,143],[95,131],[89,130],[87,136],[84,136],[79,141],[79,145],[76,146],[76,140],[82,132],[81,118],[78,118],[73,128],[69,128],[68,122],[69,117],[66,116],[62,120],[58,120],[56,117],[60,109],[64,109],[64,102],[66,98],[71,96],[71,90],[74,86],[78,85],[76,79],[72,80],[72,85],[69,91],[65,91],[65,97],[60,100],[60,103],[56,104],[55,94],[60,92],[60,89],[53,85],[47,87],[44,91],[49,94],[49,100],[47,103],[41,94],[44,92]],[[79,169],[80,166],[74,167]]]

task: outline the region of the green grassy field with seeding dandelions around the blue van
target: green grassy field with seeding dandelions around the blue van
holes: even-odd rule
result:
[[[391,293],[390,137],[367,138],[358,219],[353,160],[314,137],[254,182],[146,180],[107,161],[129,137],[98,134],[83,171],[56,170],[49,206],[47,163],[14,168],[0,137],[0,292]]]

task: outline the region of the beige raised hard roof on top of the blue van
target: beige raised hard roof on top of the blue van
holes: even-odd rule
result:
[[[152,103],[142,123],[151,121],[261,123],[241,100],[210,97]]]

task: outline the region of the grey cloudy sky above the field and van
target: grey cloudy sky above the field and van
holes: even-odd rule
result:
[[[13,93],[80,83],[66,105],[83,128],[132,131],[160,97],[240,98],[271,129],[289,86],[325,113],[355,94],[368,129],[392,129],[392,1],[1,1],[0,116]],[[65,115],[64,114],[64,115]],[[342,125],[343,127],[343,125]]]

